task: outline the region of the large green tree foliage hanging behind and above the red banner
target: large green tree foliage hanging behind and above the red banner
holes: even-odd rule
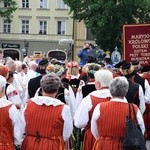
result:
[[[64,0],[104,50],[122,47],[124,24],[150,23],[150,0]]]

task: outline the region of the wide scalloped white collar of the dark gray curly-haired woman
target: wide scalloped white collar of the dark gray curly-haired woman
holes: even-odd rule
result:
[[[58,106],[58,105],[63,105],[64,103],[62,103],[60,100],[56,99],[56,98],[51,98],[48,96],[37,96],[34,98],[31,98],[31,100],[36,103],[37,105],[43,105],[45,104],[46,106]]]

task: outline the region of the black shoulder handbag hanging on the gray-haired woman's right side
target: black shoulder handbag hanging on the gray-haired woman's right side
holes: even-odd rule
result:
[[[132,112],[134,116],[133,119],[131,117]],[[129,116],[126,117],[126,131],[123,148],[124,150],[147,150],[146,140],[138,124],[134,106],[130,103]]]

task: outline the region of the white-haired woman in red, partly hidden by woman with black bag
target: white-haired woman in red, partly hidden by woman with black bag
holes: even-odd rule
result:
[[[109,101],[111,94],[109,84],[113,79],[113,74],[108,70],[99,70],[95,73],[96,91],[87,95],[80,103],[75,115],[74,125],[78,128],[84,128],[83,150],[92,150],[95,138],[91,134],[91,118],[95,106],[100,102]]]

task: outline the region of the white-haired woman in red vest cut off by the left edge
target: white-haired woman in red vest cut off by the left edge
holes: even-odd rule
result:
[[[24,122],[17,108],[5,98],[6,79],[0,75],[0,150],[21,145]]]

